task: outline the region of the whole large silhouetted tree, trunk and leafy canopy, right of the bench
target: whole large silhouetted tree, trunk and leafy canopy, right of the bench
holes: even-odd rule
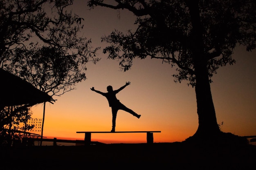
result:
[[[220,66],[234,64],[236,45],[255,49],[254,0],[90,0],[88,6],[128,9],[137,16],[135,31],[104,36],[103,49],[124,71],[133,59],[157,58],[177,66],[176,82],[195,88],[198,130],[193,139],[216,137],[220,129],[211,95],[211,77]]]

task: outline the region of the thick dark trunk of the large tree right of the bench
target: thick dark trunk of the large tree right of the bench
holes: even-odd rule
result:
[[[220,132],[213,100],[211,96],[211,87],[209,82],[209,72],[207,68],[207,59],[204,53],[203,28],[200,21],[200,11],[198,0],[187,0],[189,13],[191,15],[191,52],[193,55],[195,69],[195,95],[198,112],[198,130],[193,137],[200,139],[211,137]]]

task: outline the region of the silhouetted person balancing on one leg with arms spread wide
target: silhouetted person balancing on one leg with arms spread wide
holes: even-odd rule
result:
[[[124,104],[122,104],[116,97],[116,94],[119,91],[123,90],[128,85],[130,85],[130,82],[126,82],[126,84],[124,86],[120,87],[119,89],[117,89],[115,91],[113,91],[112,86],[108,86],[107,87],[108,93],[103,93],[101,91],[97,91],[94,89],[94,87],[91,88],[92,91],[95,91],[96,93],[99,93],[108,99],[108,104],[112,108],[112,130],[111,130],[111,132],[115,132],[116,118],[117,118],[118,110],[124,110],[124,111],[132,114],[133,116],[137,117],[138,119],[141,116],[141,115],[138,115],[137,113],[135,113],[130,108],[127,108],[126,106],[124,106]]]

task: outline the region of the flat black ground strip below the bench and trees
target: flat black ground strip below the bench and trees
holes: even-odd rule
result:
[[[256,146],[154,143],[0,148],[0,170],[249,170]]]

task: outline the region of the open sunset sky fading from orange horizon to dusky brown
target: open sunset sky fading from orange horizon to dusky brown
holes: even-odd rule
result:
[[[106,44],[101,36],[109,35],[114,29],[126,31],[135,29],[135,16],[129,11],[96,7],[89,11],[86,2],[75,0],[73,12],[84,18],[81,35],[92,39],[92,46],[101,46],[98,51],[101,60],[88,63],[87,79],[61,97],[54,97],[54,104],[46,104],[45,137],[57,139],[83,139],[76,131],[110,131],[112,113],[108,101],[102,95],[90,90],[107,92],[130,81],[117,94],[117,98],[140,114],[140,119],[119,110],[116,131],[160,130],[154,134],[154,142],[183,141],[192,136],[198,128],[195,89],[186,81],[175,83],[175,68],[162,64],[162,60],[134,60],[131,70],[122,72],[119,62],[108,60],[102,53]],[[213,76],[211,92],[218,124],[223,132],[235,135],[256,135],[256,51],[246,52],[237,46],[233,58],[236,64],[225,66]],[[43,117],[43,104],[32,107],[33,118]],[[92,134],[92,141],[106,143],[146,142],[146,133]]]

